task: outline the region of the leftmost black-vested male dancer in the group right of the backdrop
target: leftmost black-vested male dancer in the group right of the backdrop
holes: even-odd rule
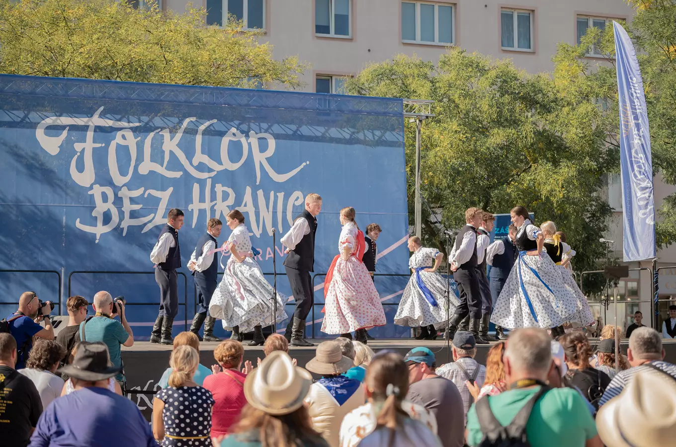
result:
[[[479,208],[469,208],[465,211],[467,224],[458,232],[449,257],[453,278],[460,292],[460,305],[456,307],[456,313],[448,321],[448,336],[452,340],[460,321],[469,315],[469,330],[477,344],[488,343],[479,336],[481,292],[477,275],[477,228],[481,225],[482,217],[483,211]]]

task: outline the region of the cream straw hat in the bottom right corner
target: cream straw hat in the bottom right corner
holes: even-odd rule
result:
[[[676,439],[676,380],[666,373],[641,371],[596,415],[608,447],[673,445]]]

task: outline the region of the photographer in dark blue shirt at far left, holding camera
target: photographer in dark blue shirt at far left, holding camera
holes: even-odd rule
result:
[[[53,303],[38,298],[35,292],[24,292],[19,298],[19,310],[9,315],[1,323],[3,332],[9,332],[16,340],[17,358],[15,369],[26,367],[28,353],[33,347],[33,337],[54,340],[54,328],[49,320],[49,313],[54,309]],[[45,327],[40,325],[45,321]]]

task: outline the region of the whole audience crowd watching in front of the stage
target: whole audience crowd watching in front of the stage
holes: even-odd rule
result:
[[[456,332],[445,365],[423,346],[402,357],[339,337],[304,367],[273,334],[255,369],[237,340],[201,365],[199,338],[182,332],[148,423],[124,396],[120,351],[134,336],[118,298],[97,293],[88,316],[87,300],[72,296],[54,340],[49,304],[22,294],[0,332],[0,445],[654,447],[676,438],[676,365],[640,321],[617,362],[614,326],[598,346],[579,330],[558,341],[514,330],[485,365],[470,332]]]

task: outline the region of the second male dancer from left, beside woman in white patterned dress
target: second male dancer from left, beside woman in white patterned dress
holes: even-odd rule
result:
[[[216,253],[210,253],[218,246],[216,238],[220,236],[220,230],[223,223],[219,219],[212,217],[207,222],[207,232],[197,240],[195,251],[190,257],[188,269],[193,272],[195,277],[195,286],[197,286],[197,313],[193,317],[193,324],[190,332],[197,335],[200,341],[220,342],[220,338],[214,337],[214,324],[216,319],[209,315],[209,303],[211,297],[218,286],[218,257]],[[199,336],[199,328],[204,323],[204,338]],[[261,334],[262,335],[262,334]]]

